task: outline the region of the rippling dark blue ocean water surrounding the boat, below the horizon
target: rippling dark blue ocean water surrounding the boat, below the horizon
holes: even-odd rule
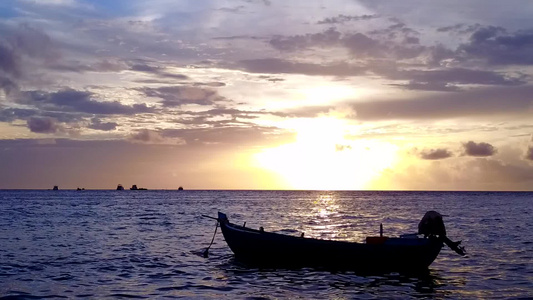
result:
[[[215,221],[363,241],[413,233],[428,210],[448,236],[427,274],[264,270],[235,261]],[[533,193],[0,191],[0,299],[527,299]]]

